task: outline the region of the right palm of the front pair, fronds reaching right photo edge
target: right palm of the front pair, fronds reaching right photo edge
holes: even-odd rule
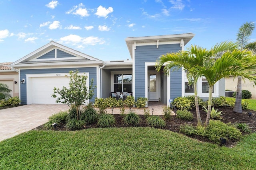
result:
[[[211,50],[214,51],[214,48]],[[196,66],[193,70],[198,72],[198,76],[204,76],[209,84],[208,112],[204,123],[205,127],[209,125],[212,90],[216,82],[229,76],[241,76],[242,78],[248,78],[251,82],[256,80],[256,77],[252,76],[252,74],[256,73],[256,56],[252,55],[251,51],[234,49],[232,51],[224,51],[221,55],[215,55],[213,52],[211,56],[203,66]]]

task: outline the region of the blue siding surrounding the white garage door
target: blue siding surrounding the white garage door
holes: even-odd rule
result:
[[[93,81],[93,86],[97,84],[97,75],[96,75],[96,67],[89,68],[51,68],[51,69],[31,69],[31,70],[20,70],[20,80],[25,78],[25,83],[20,84],[20,99],[22,100],[21,104],[27,104],[27,86],[26,86],[26,74],[52,74],[52,73],[68,73],[70,70],[78,69],[79,72],[88,72],[89,73],[89,81]],[[94,102],[94,98],[97,97],[97,88],[94,90],[94,96],[90,100],[90,102]]]

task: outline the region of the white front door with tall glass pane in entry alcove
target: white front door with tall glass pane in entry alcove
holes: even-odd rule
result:
[[[160,94],[160,76],[156,71],[148,72],[148,101],[158,101]]]

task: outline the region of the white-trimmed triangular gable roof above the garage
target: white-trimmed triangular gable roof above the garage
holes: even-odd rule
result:
[[[69,53],[71,55],[74,55],[74,58],[76,59],[58,59],[58,60],[53,60],[53,59],[48,59],[48,60],[38,60],[36,61],[35,59],[39,58],[40,56],[44,55],[45,53],[53,50],[53,49],[59,49],[61,51],[65,51],[66,53]],[[66,47],[64,45],[61,45],[59,43],[56,43],[54,41],[51,41],[50,43],[40,47],[39,49],[33,51],[32,53],[26,55],[25,57],[22,57],[18,61],[15,61],[12,63],[12,66],[17,66],[21,64],[40,64],[40,63],[58,63],[58,62],[82,62],[82,61],[94,61],[96,63],[102,62],[102,60],[96,59],[90,55],[86,55],[84,53],[81,53],[79,51],[76,51],[74,49],[71,49],[69,47]]]

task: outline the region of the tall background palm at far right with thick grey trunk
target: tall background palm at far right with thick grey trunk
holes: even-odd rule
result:
[[[243,49],[246,47],[254,27],[254,22],[246,22],[239,28],[239,31],[236,34],[238,48]],[[242,77],[240,76],[238,76],[236,86],[236,102],[233,111],[236,113],[242,113]]]

